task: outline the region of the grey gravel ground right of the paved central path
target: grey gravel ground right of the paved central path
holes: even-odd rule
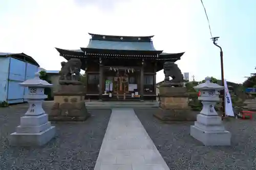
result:
[[[163,124],[156,109],[135,109],[170,169],[256,169],[256,121],[224,120],[232,133],[230,147],[205,147],[189,135],[194,123]]]

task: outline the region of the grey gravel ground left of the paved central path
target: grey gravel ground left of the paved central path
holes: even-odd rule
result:
[[[81,123],[57,123],[56,138],[44,147],[9,147],[8,135],[19,125],[26,104],[0,108],[0,169],[93,169],[109,123],[111,110],[90,110]],[[45,108],[48,112],[49,108]]]

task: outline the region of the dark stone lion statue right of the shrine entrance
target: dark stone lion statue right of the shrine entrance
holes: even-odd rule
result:
[[[174,62],[167,61],[163,64],[163,72],[164,72],[164,81],[170,81],[173,83],[181,83],[184,82],[184,77],[181,73],[180,68],[177,64]],[[172,78],[172,80],[169,80],[169,77]]]

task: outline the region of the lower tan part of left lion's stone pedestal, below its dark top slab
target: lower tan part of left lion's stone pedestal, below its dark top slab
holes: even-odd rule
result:
[[[83,95],[56,95],[49,120],[75,122],[84,121],[90,116]]]

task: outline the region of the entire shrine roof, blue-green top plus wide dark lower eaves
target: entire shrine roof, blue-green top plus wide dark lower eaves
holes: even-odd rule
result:
[[[106,56],[137,56],[153,57],[159,55],[157,60],[179,60],[184,53],[162,53],[155,49],[152,41],[154,36],[114,36],[91,34],[87,47],[80,47],[78,50],[64,50],[56,48],[63,57],[87,57],[88,55]]]

